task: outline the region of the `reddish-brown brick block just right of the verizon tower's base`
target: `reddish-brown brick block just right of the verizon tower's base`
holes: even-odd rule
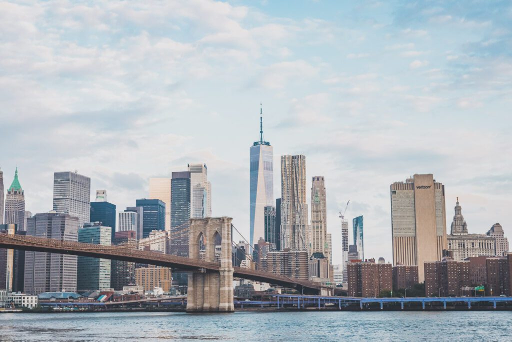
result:
[[[425,295],[463,296],[470,287],[470,261],[455,261],[443,258],[441,261],[426,262],[424,266]],[[469,291],[471,292],[471,291]]]

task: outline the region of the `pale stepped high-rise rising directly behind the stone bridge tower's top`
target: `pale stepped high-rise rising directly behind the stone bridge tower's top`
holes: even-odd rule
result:
[[[190,172],[190,214],[193,218],[211,217],[211,183],[208,182],[208,168],[206,164],[188,164]],[[196,186],[204,188],[203,197],[194,196]],[[203,211],[203,216],[198,217],[199,212]]]

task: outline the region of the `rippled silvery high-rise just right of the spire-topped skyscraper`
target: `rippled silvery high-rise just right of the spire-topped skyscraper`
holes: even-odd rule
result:
[[[281,156],[281,247],[297,251],[309,248],[304,155]]]

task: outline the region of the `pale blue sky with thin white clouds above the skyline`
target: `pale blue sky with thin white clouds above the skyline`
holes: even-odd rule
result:
[[[335,264],[348,200],[392,260],[389,187],[415,173],[445,185],[448,233],[458,196],[471,233],[512,238],[511,95],[508,1],[0,2],[0,168],[33,213],[55,171],[123,210],[199,162],[248,237],[262,103],[274,170],[304,154],[308,198],[325,176]]]

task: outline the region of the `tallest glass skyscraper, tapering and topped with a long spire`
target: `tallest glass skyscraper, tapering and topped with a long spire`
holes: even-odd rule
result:
[[[263,137],[263,115],[260,109],[260,140],[250,147],[250,245],[258,243],[265,236],[265,207],[274,205],[274,150]]]

